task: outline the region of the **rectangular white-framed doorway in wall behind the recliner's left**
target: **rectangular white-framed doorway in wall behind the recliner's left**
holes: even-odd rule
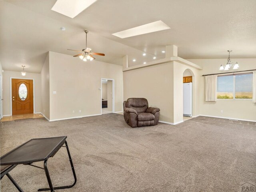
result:
[[[101,114],[114,113],[114,79],[101,78]]]

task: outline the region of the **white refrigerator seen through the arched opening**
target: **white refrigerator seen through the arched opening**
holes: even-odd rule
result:
[[[192,117],[192,83],[183,83],[183,116]]]

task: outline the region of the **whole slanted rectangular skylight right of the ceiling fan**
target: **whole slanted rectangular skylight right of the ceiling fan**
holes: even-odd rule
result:
[[[162,31],[162,30],[166,30],[166,29],[170,29],[170,27],[168,25],[166,25],[164,22],[162,22],[161,20],[159,20],[156,22],[148,23],[148,24],[130,28],[130,29],[127,29],[124,31],[113,33],[112,35],[123,39],[123,38],[127,38],[127,37],[133,37],[133,36],[137,36],[137,35]]]

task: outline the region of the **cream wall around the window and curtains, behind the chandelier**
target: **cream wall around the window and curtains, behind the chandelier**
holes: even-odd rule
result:
[[[256,69],[256,58],[231,58],[231,60],[232,62],[238,62],[240,66],[238,69],[239,71]],[[219,70],[221,64],[226,64],[226,59],[189,59],[189,61],[203,67],[203,70],[198,71],[198,114],[256,121],[256,104],[253,104],[252,100],[217,100],[217,102],[205,101],[205,80],[202,75],[226,72]],[[223,113],[221,113],[220,110],[223,110]]]

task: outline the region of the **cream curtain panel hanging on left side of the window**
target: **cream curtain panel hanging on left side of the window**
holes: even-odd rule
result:
[[[216,101],[217,75],[205,76],[205,101]]]

